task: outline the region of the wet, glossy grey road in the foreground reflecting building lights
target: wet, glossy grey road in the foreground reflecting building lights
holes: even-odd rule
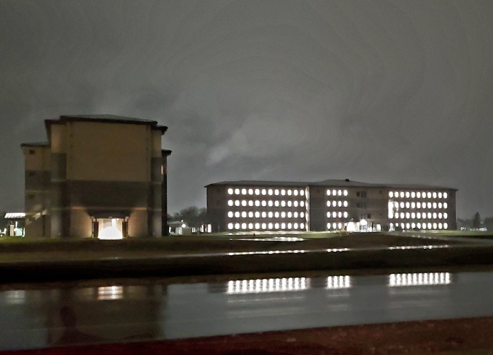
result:
[[[435,271],[3,286],[0,349],[493,316],[493,272]]]

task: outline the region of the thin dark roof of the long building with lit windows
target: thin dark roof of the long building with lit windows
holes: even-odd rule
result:
[[[444,186],[431,186],[422,184],[382,184],[382,183],[369,183],[361,181],[352,181],[350,179],[345,180],[323,180],[316,182],[307,181],[259,181],[259,180],[239,180],[239,181],[221,181],[214,182],[207,186],[219,186],[219,185],[229,185],[229,186],[292,186],[292,187],[305,187],[305,186],[323,186],[323,187],[380,187],[388,189],[442,189],[442,190],[455,190],[456,188],[444,187]]]

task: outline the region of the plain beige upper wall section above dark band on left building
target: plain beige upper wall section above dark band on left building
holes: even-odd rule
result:
[[[149,126],[68,122],[67,130],[68,180],[150,181]]]

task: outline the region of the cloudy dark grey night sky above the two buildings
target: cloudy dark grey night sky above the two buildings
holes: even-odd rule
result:
[[[1,0],[0,210],[43,120],[169,127],[169,210],[240,179],[458,188],[493,216],[491,0]]]

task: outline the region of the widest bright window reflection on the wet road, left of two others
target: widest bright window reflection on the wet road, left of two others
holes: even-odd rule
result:
[[[310,288],[310,278],[283,277],[277,279],[236,280],[228,282],[227,295],[302,291]]]

